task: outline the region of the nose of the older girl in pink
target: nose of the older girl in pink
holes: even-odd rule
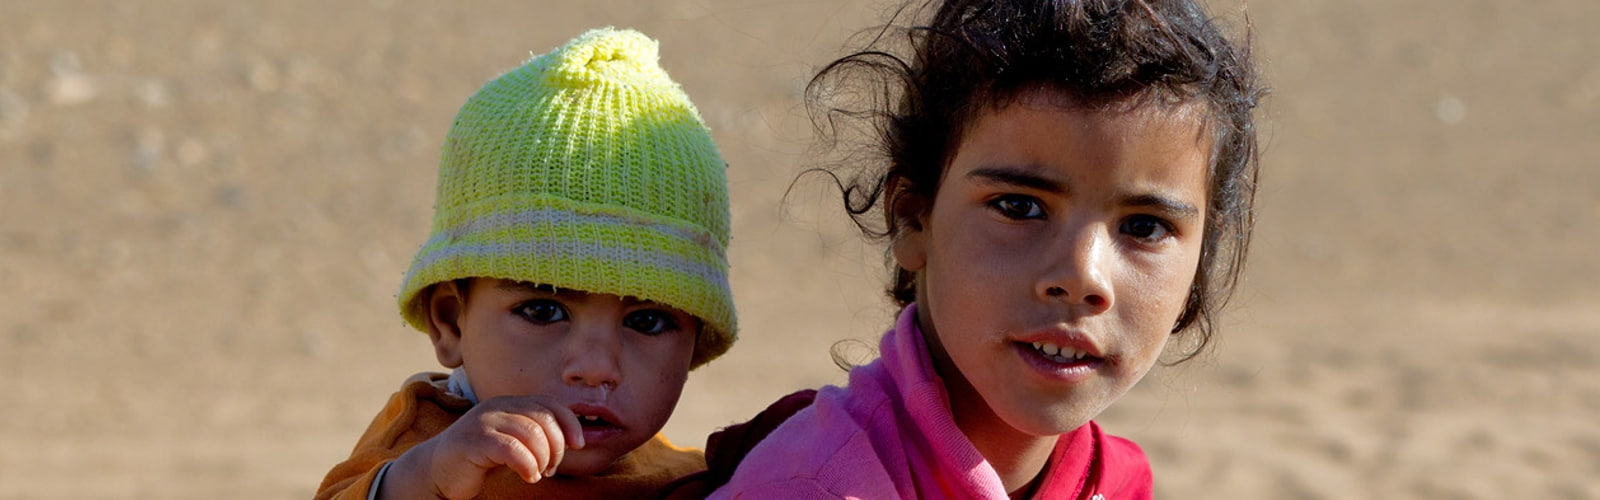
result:
[[[1050,301],[1085,304],[1091,312],[1110,309],[1110,269],[1114,242],[1096,226],[1066,231],[1042,258],[1046,266],[1038,277],[1035,292]]]

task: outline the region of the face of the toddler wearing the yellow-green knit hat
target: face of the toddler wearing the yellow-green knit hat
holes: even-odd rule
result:
[[[558,473],[595,474],[667,423],[688,380],[699,319],[658,303],[474,279],[459,353],[478,401],[544,394],[584,426]]]

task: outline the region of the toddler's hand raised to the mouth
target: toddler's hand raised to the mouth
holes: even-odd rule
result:
[[[578,415],[547,396],[502,396],[461,415],[443,433],[408,450],[384,476],[386,498],[394,479],[406,486],[422,486],[445,498],[472,498],[483,490],[483,478],[490,470],[507,466],[523,481],[538,482],[562,463],[566,449],[584,447],[584,431]],[[405,463],[405,466],[402,465]],[[427,478],[418,484],[397,473],[419,473]],[[414,479],[421,479],[414,478]],[[395,484],[398,486],[398,484]],[[402,490],[416,492],[411,487]]]

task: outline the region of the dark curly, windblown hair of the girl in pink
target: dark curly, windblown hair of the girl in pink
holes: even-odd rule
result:
[[[925,26],[894,19],[933,11]],[[1266,95],[1250,56],[1189,0],[942,0],[902,5],[866,48],[822,67],[806,103],[824,146],[866,125],[874,160],[842,159],[827,173],[845,210],[874,239],[893,239],[920,213],[896,213],[896,192],[931,200],[962,135],[984,111],[1045,88],[1080,109],[1198,106],[1213,151],[1200,266],[1173,333],[1197,332],[1179,362],[1205,349],[1232,295],[1254,224],[1254,109]],[[854,165],[854,167],[846,167]],[[854,170],[854,173],[843,173]],[[843,175],[842,175],[843,173]],[[928,207],[918,207],[928,210]],[[877,212],[877,213],[874,213]],[[875,220],[877,218],[877,220]],[[888,295],[915,298],[896,268]]]

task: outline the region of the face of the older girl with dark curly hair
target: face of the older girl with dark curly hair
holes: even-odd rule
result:
[[[1051,98],[979,115],[893,244],[974,441],[1061,434],[1117,401],[1160,356],[1200,261],[1198,114]]]

